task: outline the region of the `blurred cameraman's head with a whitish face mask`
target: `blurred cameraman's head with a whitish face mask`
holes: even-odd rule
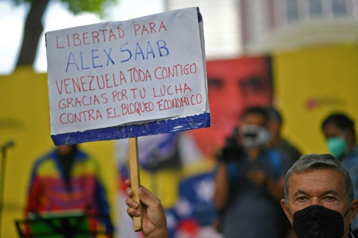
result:
[[[242,114],[239,142],[247,147],[261,146],[271,138],[267,131],[268,115],[264,107],[249,107]]]

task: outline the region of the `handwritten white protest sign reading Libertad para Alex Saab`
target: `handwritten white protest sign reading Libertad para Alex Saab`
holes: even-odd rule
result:
[[[46,33],[56,145],[210,126],[198,8]]]

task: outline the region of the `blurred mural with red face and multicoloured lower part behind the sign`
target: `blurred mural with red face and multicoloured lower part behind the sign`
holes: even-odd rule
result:
[[[233,129],[241,123],[243,111],[252,105],[265,107],[271,104],[270,61],[265,56],[206,61],[210,127],[179,132],[177,136],[169,133],[138,138],[139,163],[145,177],[143,185],[161,197],[170,221],[170,236],[221,237],[211,226],[216,211],[213,193],[207,187],[213,186],[215,181],[216,155],[224,147],[226,137],[231,136]],[[116,148],[121,174],[128,174],[128,144],[118,140]],[[174,163],[173,158],[176,158]],[[157,169],[147,170],[152,162]],[[175,166],[178,172],[173,171]],[[121,179],[124,184],[127,177]],[[156,189],[157,186],[161,189]],[[125,188],[121,194],[125,206]],[[125,237],[138,238],[138,234],[126,225],[131,222],[122,215],[118,223],[120,232]],[[211,235],[207,235],[209,230]]]

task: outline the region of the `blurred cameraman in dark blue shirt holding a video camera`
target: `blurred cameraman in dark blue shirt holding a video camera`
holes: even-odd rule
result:
[[[226,238],[280,238],[286,171],[292,162],[269,149],[267,111],[247,109],[219,157],[214,202]]]

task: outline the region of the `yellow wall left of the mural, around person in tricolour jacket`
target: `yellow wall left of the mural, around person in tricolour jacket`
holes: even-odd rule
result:
[[[50,137],[47,74],[36,74],[31,67],[18,68],[12,75],[0,76],[0,145],[9,139],[15,146],[6,159],[4,208],[1,238],[18,237],[15,220],[23,218],[27,187],[35,159],[54,148]],[[113,141],[81,144],[99,161],[108,188],[112,217],[116,166]]]

